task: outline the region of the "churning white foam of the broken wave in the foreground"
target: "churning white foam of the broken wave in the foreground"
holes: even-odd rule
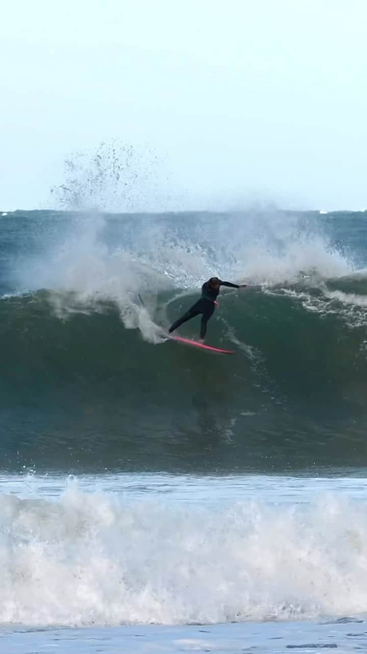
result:
[[[2,495],[1,623],[208,624],[366,609],[366,513],[313,504]],[[342,543],[342,546],[341,546]]]

